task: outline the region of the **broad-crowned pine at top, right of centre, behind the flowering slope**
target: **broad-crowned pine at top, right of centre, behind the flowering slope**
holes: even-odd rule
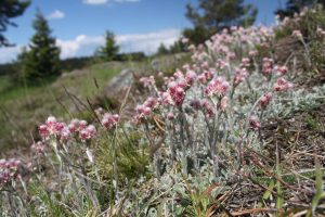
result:
[[[194,33],[187,29],[186,37],[194,42],[203,42],[207,36],[231,26],[250,26],[253,24],[257,9],[244,4],[244,0],[199,0],[198,8],[186,5],[186,16],[194,25]],[[196,34],[203,38],[198,39]],[[195,38],[192,38],[195,37]]]

